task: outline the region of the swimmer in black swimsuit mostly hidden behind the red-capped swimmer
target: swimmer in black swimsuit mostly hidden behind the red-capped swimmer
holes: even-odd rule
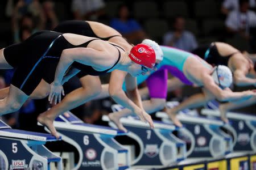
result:
[[[129,44],[122,35],[115,31],[115,29],[101,24],[97,22],[85,22],[85,21],[77,21],[77,20],[69,20],[63,23],[60,23],[56,28],[55,31],[58,32],[71,32],[71,33],[77,33],[80,35],[89,35],[93,37],[97,37],[99,39],[108,40],[110,42],[114,42],[115,44],[118,44],[122,46],[126,51],[130,51],[133,46]],[[157,44],[155,43],[155,46],[153,47],[156,50]],[[160,48],[159,48],[160,49]],[[159,53],[159,52],[158,52]],[[156,62],[159,61],[159,54],[156,53]],[[127,84],[127,89],[130,91],[127,91],[127,95],[131,96],[131,99],[129,99],[125,92],[122,90],[122,84],[123,81],[126,79],[126,82],[129,82]],[[95,97],[104,97],[104,96],[112,96],[113,99],[117,103],[122,103],[122,105],[126,108],[130,108],[134,112],[140,112],[141,109],[142,120],[146,120],[148,122],[151,122],[151,117],[148,117],[148,114],[144,112],[144,109],[142,107],[141,102],[141,96],[138,93],[137,89],[137,80],[131,74],[127,74],[126,71],[121,70],[114,70],[110,76],[110,85],[103,84],[102,86],[96,86],[96,83],[88,83],[88,82],[97,82],[97,85],[100,84],[100,78],[97,76],[82,76],[80,75],[80,82],[82,84],[82,87],[72,91],[69,93],[65,98],[61,101],[61,103],[55,105],[48,111],[44,112],[43,114],[40,114],[38,117],[39,122],[43,122],[44,124],[48,124],[48,122],[51,122],[51,120],[54,120],[52,117],[56,117],[58,114],[61,114],[65,111],[68,111],[69,109],[72,109],[73,103],[76,101],[80,104],[85,103],[87,100],[84,100],[84,96],[88,94],[88,92],[96,91],[101,93],[97,95],[92,95],[90,99],[93,99]],[[129,87],[128,87],[129,86]],[[50,120],[50,121],[48,121]],[[50,123],[51,124],[51,123]],[[152,125],[151,125],[152,126]],[[52,134],[56,134],[56,130],[51,126],[49,128],[52,132]]]

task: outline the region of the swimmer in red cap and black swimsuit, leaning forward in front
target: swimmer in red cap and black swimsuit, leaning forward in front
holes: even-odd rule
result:
[[[87,48],[86,45],[88,45]],[[141,51],[138,53],[138,49],[141,48],[147,53]],[[134,46],[131,52],[127,53],[118,45],[110,44],[107,41],[52,31],[35,33],[26,41],[11,45],[0,52],[1,68],[15,67],[17,69],[9,95],[0,101],[1,114],[19,109],[42,78],[47,83],[51,83],[54,79],[51,83],[51,100],[54,99],[56,102],[60,100],[60,92],[63,91],[61,83],[65,74],[75,75],[80,72],[101,75],[114,69],[120,69],[131,75],[137,75],[144,73],[142,66],[138,64],[140,61],[148,69],[154,67],[155,64],[154,49],[148,45]],[[148,53],[151,56],[148,56]],[[15,58],[18,59],[15,61]],[[97,94],[88,94],[88,96],[84,96],[83,101],[89,100],[92,95]],[[73,103],[73,105],[79,104],[79,102]],[[141,114],[141,109],[138,109],[138,112]]]

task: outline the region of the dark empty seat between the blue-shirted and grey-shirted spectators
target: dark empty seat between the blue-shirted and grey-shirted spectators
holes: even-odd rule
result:
[[[152,39],[162,39],[164,33],[169,29],[168,23],[163,19],[148,19],[144,22],[144,28]]]

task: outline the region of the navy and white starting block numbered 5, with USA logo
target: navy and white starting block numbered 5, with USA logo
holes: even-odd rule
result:
[[[56,162],[62,169],[61,158],[43,145],[57,141],[55,137],[44,133],[11,129],[0,121],[0,169],[49,169]]]

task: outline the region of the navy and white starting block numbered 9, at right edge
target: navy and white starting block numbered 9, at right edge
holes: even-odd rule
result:
[[[202,114],[209,117],[220,117],[218,110],[203,109]],[[256,116],[228,112],[229,124],[224,128],[233,135],[233,149],[241,152],[256,151]]]

